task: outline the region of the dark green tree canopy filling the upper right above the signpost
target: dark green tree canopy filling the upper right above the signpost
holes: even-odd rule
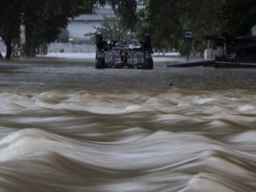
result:
[[[154,47],[184,49],[184,31],[193,31],[193,48],[205,49],[205,35],[249,34],[256,24],[254,0],[145,0],[139,35],[150,31]]]

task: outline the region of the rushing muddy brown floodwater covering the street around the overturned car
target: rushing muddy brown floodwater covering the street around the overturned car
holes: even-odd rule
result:
[[[0,191],[256,191],[256,69],[93,62],[1,60]]]

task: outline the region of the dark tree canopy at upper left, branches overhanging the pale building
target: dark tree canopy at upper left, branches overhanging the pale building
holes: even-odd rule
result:
[[[19,26],[26,26],[26,47],[33,54],[36,47],[57,39],[69,18],[93,14],[97,7],[109,4],[122,17],[125,28],[136,22],[136,0],[8,0],[0,4],[0,36],[7,46],[6,58],[11,57],[11,42],[19,38]],[[125,7],[125,9],[122,9]],[[129,18],[129,19],[128,19]],[[129,22],[124,22],[124,21]],[[30,54],[28,54],[30,55]]]

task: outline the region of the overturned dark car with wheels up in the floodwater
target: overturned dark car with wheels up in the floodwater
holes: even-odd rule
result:
[[[103,41],[102,34],[96,36],[95,68],[153,69],[151,35],[145,34],[144,42]]]

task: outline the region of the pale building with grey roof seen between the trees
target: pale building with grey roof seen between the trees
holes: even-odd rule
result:
[[[114,16],[114,11],[110,6],[105,6],[96,10],[96,14],[93,15],[80,15],[74,19],[70,19],[70,24],[66,30],[63,30],[60,34],[60,40],[89,40],[90,37],[85,37],[85,33],[95,32],[95,27],[99,27],[103,15]]]

